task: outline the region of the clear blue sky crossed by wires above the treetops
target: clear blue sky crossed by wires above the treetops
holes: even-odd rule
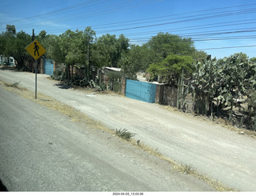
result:
[[[7,24],[28,34],[92,26],[97,37],[124,34],[138,45],[168,32],[212,57],[256,57],[255,0],[0,0],[0,32]]]

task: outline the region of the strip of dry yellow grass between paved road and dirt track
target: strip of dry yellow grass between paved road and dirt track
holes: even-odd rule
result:
[[[26,90],[26,88],[19,87],[18,84],[17,85],[15,83],[10,84],[6,82],[2,82],[0,80],[0,85],[2,85],[6,90],[9,90],[11,92],[14,92],[15,94],[21,95],[23,98],[30,99],[33,102],[38,102],[42,106],[46,106],[52,110],[58,110],[62,114],[69,116],[71,121],[83,122],[83,123],[86,123],[87,126],[89,125],[98,130],[105,130],[110,134],[116,135],[116,132],[114,130],[110,130],[105,126],[102,126],[100,122],[94,121],[93,119],[86,116],[86,114],[82,114],[79,110],[76,110],[71,106],[67,106],[62,102],[58,102],[54,98],[46,96],[45,94],[38,94],[38,99],[34,99],[34,92],[30,90]],[[175,111],[178,112],[177,110]],[[170,158],[164,157],[161,153],[158,152],[158,150],[154,150],[150,146],[145,145],[143,142],[138,143],[138,141],[136,141],[133,138],[130,138],[129,140],[126,140],[126,138],[120,138],[120,139],[124,142],[132,144],[133,146],[136,146],[139,149],[142,149],[143,151],[146,151],[149,154],[152,154],[158,158],[161,158],[166,162],[169,162],[170,166],[172,167],[172,170],[181,172],[182,174],[191,175],[194,178],[198,178],[199,180],[202,180],[206,182],[208,185],[214,187],[214,189],[218,191],[236,191],[236,190],[230,189],[230,187],[224,186],[220,182],[214,181],[213,179],[207,177],[206,175],[199,174],[190,165],[187,165],[187,164],[182,165],[182,164],[179,164],[178,162],[175,162],[174,160],[171,160]]]

